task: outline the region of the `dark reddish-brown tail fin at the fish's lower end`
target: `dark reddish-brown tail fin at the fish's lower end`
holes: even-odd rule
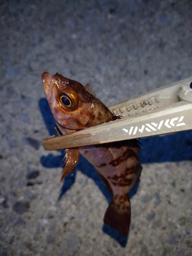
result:
[[[110,202],[104,215],[104,223],[126,234],[130,229],[131,207],[129,195],[116,196]]]

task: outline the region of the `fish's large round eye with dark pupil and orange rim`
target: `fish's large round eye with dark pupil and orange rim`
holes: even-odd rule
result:
[[[67,109],[74,109],[76,108],[77,104],[78,104],[78,96],[76,94],[76,92],[72,92],[73,90],[71,90],[70,92],[61,92],[59,94],[59,100],[61,105],[64,108]]]

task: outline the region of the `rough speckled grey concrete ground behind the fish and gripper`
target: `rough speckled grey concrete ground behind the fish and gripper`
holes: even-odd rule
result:
[[[0,255],[192,255],[192,133],[141,140],[124,238],[103,226],[110,196],[86,160],[59,182],[63,152],[41,144],[54,122],[40,78],[89,82],[110,105],[192,76],[191,1],[0,5]]]

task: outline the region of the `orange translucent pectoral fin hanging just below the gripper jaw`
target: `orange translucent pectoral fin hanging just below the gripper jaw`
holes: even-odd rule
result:
[[[78,148],[67,148],[65,155],[65,167],[62,170],[61,180],[63,180],[78,163],[79,160],[79,149]]]

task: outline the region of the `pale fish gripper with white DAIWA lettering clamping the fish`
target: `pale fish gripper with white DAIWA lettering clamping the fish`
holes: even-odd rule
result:
[[[46,150],[163,135],[192,129],[192,77],[109,107],[121,119],[43,140]]]

